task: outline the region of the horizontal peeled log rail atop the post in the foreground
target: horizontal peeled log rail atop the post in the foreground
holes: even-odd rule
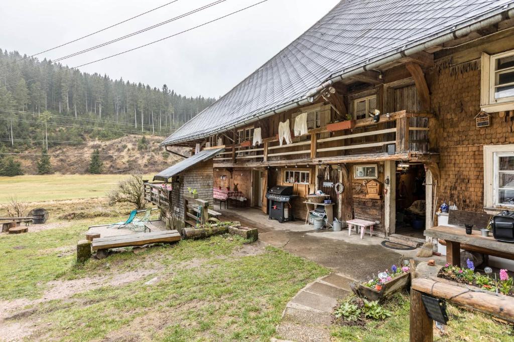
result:
[[[497,295],[492,292],[473,291],[427,278],[413,279],[411,287],[415,291],[451,300],[452,303],[466,309],[486,313],[514,323],[514,297]]]

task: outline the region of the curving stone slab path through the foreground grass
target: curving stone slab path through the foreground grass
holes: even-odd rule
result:
[[[332,273],[307,285],[287,303],[276,335],[295,342],[329,341],[332,312],[337,300],[351,291],[353,281],[343,274]]]

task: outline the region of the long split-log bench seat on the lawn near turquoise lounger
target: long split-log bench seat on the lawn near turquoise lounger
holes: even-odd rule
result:
[[[177,241],[180,241],[180,234],[176,230],[108,236],[94,238],[93,250],[101,251],[110,248],[136,247],[157,243],[173,243]]]

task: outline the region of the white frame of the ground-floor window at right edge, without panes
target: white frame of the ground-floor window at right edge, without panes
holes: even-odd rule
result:
[[[514,155],[514,144],[484,146],[484,210],[495,214],[513,205],[498,203],[500,157]]]

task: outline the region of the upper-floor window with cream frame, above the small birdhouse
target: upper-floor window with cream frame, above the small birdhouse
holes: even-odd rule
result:
[[[481,108],[486,112],[514,109],[514,50],[482,53]]]

